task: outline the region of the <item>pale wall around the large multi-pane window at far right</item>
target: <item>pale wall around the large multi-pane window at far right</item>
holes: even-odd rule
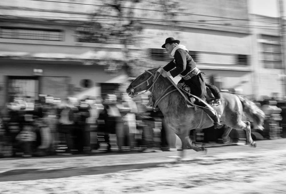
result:
[[[261,35],[280,36],[279,20],[276,18],[256,19],[263,18],[263,16],[253,14],[250,14],[249,18],[253,19],[250,21],[252,26],[252,54],[250,60],[255,70],[252,77],[253,94],[259,99],[262,99],[262,96],[271,95],[272,92],[283,95],[285,94],[285,85],[283,84],[285,77],[282,75],[285,74],[285,67],[284,69],[264,68],[263,54],[261,53],[262,44],[260,43]]]

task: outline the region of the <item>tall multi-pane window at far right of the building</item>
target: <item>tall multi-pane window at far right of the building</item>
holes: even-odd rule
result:
[[[283,69],[279,36],[261,35],[263,68]]]

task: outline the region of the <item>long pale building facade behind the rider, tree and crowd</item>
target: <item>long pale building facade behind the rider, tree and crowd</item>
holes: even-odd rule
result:
[[[134,18],[142,26],[142,44],[124,45],[76,36],[93,11],[104,6],[100,1],[1,1],[1,106],[15,96],[52,94],[63,99],[85,91],[96,96],[98,90],[90,88],[119,78],[125,82],[126,49],[137,58],[150,58],[154,66],[166,65],[172,60],[161,48],[167,37],[179,39],[206,82],[220,89],[241,88],[254,98],[284,94],[279,28],[271,24],[277,19],[261,24],[260,16],[248,15],[247,0],[187,1],[183,9],[170,10],[176,17],[146,2],[122,5],[136,10]],[[141,50],[148,52],[140,55]]]

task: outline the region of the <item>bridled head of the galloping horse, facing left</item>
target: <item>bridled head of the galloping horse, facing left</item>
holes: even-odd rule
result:
[[[155,82],[155,72],[157,72],[158,68],[145,70],[144,73],[140,74],[126,89],[126,93],[130,97],[137,96],[139,92],[143,90],[148,90],[152,86],[153,82]],[[158,76],[157,76],[158,77]]]

